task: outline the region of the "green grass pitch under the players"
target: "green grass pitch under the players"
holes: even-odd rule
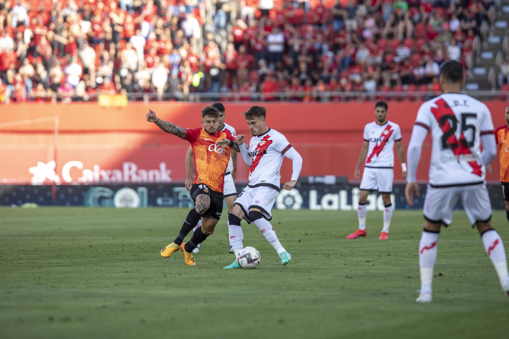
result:
[[[2,338],[480,338],[509,337],[509,298],[463,212],[442,230],[434,301],[416,304],[418,211],[369,212],[366,239],[346,240],[355,212],[277,211],[283,267],[253,225],[256,270],[223,270],[221,220],[195,255],[159,256],[187,210],[0,209]],[[505,213],[495,228],[509,243]]]

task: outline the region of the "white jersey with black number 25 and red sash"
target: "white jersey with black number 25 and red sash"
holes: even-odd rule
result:
[[[420,106],[415,124],[431,132],[432,187],[484,182],[480,136],[493,133],[491,113],[484,103],[465,94],[444,93]]]

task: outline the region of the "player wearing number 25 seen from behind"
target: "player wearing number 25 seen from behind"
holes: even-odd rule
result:
[[[413,195],[419,196],[415,173],[422,143],[431,131],[430,180],[424,200],[424,231],[419,244],[421,287],[417,302],[432,300],[431,283],[440,227],[447,227],[453,221],[453,209],[459,200],[472,227],[475,225],[480,233],[503,292],[509,294],[504,244],[492,226],[491,203],[485,182],[485,166],[496,155],[493,123],[484,103],[460,94],[463,81],[462,64],[451,60],[442,65],[440,83],[443,94],[420,106],[408,146],[405,195],[408,205],[412,206]],[[479,150],[481,143],[482,153]]]

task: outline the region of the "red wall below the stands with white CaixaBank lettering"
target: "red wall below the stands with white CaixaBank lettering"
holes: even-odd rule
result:
[[[185,178],[189,143],[148,123],[152,109],[163,120],[184,128],[199,127],[207,103],[128,103],[101,107],[94,103],[12,104],[0,112],[0,182],[42,184],[168,183]],[[353,179],[364,125],[374,121],[374,103],[263,103],[267,125],[286,135],[302,155],[302,176],[335,175]],[[495,127],[503,125],[505,102],[487,102]],[[227,103],[225,121],[238,134],[250,134],[241,112],[249,104]],[[403,145],[410,139],[419,103],[389,102],[388,119],[401,126]],[[58,137],[55,142],[55,117]],[[418,179],[428,179],[430,137],[423,146]],[[396,157],[397,159],[397,157]],[[394,178],[401,179],[396,161]],[[488,180],[498,180],[498,162]],[[238,159],[237,178],[248,168]],[[289,179],[284,161],[281,180]]]

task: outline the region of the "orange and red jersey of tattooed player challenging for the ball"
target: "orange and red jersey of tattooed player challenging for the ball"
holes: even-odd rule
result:
[[[186,140],[191,144],[196,177],[193,184],[205,184],[216,192],[223,192],[224,173],[230,161],[230,147],[216,146],[221,138],[235,141],[229,131],[218,131],[210,135],[203,128],[186,129]]]

